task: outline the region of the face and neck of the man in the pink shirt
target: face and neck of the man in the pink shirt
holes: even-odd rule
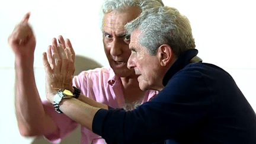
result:
[[[103,17],[104,50],[111,68],[120,77],[123,84],[126,103],[139,101],[145,92],[139,88],[137,76],[133,69],[127,68],[130,56],[130,37],[126,35],[124,25],[140,14],[139,7],[128,7],[127,11],[110,11]]]

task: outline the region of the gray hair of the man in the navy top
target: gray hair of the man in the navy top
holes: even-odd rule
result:
[[[129,34],[136,29],[141,31],[139,43],[146,47],[150,55],[155,55],[162,44],[171,46],[176,56],[196,47],[190,21],[175,8],[148,9],[135,20],[127,23],[125,28]]]

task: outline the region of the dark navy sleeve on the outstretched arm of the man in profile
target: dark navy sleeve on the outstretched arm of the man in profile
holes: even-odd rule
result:
[[[107,143],[156,143],[201,125],[210,108],[200,73],[180,73],[151,101],[133,111],[99,110],[92,130]]]

